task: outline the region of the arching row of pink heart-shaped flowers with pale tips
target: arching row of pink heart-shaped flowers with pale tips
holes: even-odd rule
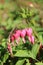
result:
[[[12,34],[12,36],[10,37],[10,41],[14,42],[14,40],[16,40],[16,43],[18,44],[20,41],[20,38],[22,38],[22,41],[24,43],[26,43],[25,37],[28,37],[28,40],[34,44],[34,36],[32,35],[33,31],[32,28],[26,28],[23,30],[16,30],[15,33]]]

